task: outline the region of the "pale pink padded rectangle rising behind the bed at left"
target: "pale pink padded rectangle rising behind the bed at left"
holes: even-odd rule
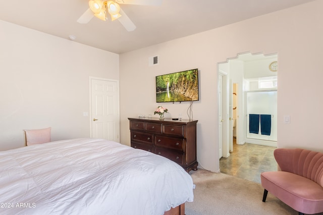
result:
[[[50,142],[50,129],[25,130],[27,145]]]

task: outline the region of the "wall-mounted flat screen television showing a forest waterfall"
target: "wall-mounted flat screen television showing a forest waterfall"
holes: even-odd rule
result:
[[[156,76],[156,102],[198,101],[198,69]]]

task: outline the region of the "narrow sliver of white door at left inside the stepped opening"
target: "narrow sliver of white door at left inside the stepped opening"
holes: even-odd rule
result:
[[[218,84],[218,92],[219,92],[219,158],[223,156],[223,76],[219,75],[219,84]]]

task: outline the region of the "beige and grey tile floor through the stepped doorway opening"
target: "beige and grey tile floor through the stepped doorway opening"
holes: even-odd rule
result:
[[[261,183],[261,172],[277,170],[274,158],[276,147],[251,143],[237,145],[236,138],[233,139],[233,152],[229,157],[220,159],[221,173]]]

